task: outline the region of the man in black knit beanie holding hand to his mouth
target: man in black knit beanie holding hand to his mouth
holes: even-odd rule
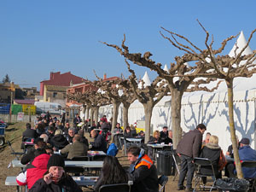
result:
[[[29,192],[82,192],[73,178],[64,171],[65,161],[60,154],[50,156],[47,172],[38,179]]]

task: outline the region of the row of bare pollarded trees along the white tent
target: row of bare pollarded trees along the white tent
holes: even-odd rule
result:
[[[247,44],[243,48],[239,48],[236,45],[234,56],[231,57],[222,54],[228,42],[236,38],[237,35],[224,39],[218,49],[213,49],[213,36],[212,40],[209,40],[209,32],[207,32],[200,22],[199,24],[206,33],[205,49],[197,47],[189,40],[189,38],[161,27],[160,35],[168,40],[172,46],[184,53],[183,56],[176,56],[174,58],[175,61],[171,63],[171,67],[168,71],[162,68],[160,62],[155,62],[150,59],[150,56],[152,55],[150,52],[144,54],[131,53],[129,47],[125,45],[125,36],[121,46],[103,42],[102,44],[106,44],[107,46],[116,49],[120,55],[125,57],[125,63],[131,75],[129,79],[122,78],[117,81],[104,82],[104,80],[98,78],[98,81],[90,83],[102,90],[102,93],[99,94],[102,96],[102,99],[97,101],[97,106],[102,105],[102,102],[100,101],[104,101],[104,99],[106,99],[108,103],[113,104],[113,127],[116,124],[117,111],[121,102],[124,103],[124,110],[127,111],[131,102],[134,100],[137,99],[139,102],[143,103],[146,122],[145,142],[149,139],[150,121],[154,105],[159,102],[163,96],[171,94],[173,146],[176,148],[182,133],[180,124],[183,93],[196,90],[212,91],[218,88],[218,84],[221,80],[225,81],[228,89],[230,135],[234,148],[237,176],[241,178],[243,176],[236,146],[236,128],[233,114],[233,81],[237,77],[249,78],[256,72],[254,64],[256,50],[253,50],[253,54],[243,55],[243,52],[248,47],[256,29],[251,32]],[[136,74],[131,69],[129,61],[138,66],[148,67],[150,70],[156,72],[158,77],[154,79],[150,85],[144,86],[143,82],[137,81]],[[203,84],[209,84],[212,81],[217,81],[218,83],[216,83],[216,87],[211,90],[209,90],[207,86],[202,86]],[[123,91],[122,94],[120,94],[120,91]],[[96,94],[98,93],[99,91],[96,91]],[[128,101],[127,98],[130,99],[130,102],[125,108],[125,102]],[[76,100],[76,98],[74,98],[74,100]],[[79,102],[79,100],[76,101]],[[85,100],[83,100],[83,102],[84,101]],[[106,102],[104,104],[106,104]],[[90,106],[88,103],[86,103],[86,105]],[[124,112],[126,116],[124,119],[128,119],[127,111]],[[125,125],[127,125],[127,119],[125,120]]]

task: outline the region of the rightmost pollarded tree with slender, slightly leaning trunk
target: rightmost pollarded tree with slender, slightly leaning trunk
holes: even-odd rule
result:
[[[201,25],[201,24],[200,24]],[[230,135],[232,146],[234,150],[234,158],[236,162],[236,172],[237,177],[242,178],[243,174],[241,171],[241,161],[239,160],[239,154],[236,143],[236,128],[234,122],[234,102],[233,102],[233,82],[234,79],[238,77],[250,78],[256,73],[256,50],[253,50],[251,54],[244,54],[245,49],[247,49],[251,39],[253,38],[253,33],[256,29],[251,32],[248,38],[247,44],[244,47],[238,47],[234,49],[234,56],[230,55],[217,55],[215,50],[212,49],[212,43],[208,44],[209,32],[201,25],[203,30],[207,34],[207,39],[205,41],[207,52],[209,53],[209,60],[204,63],[205,68],[208,70],[205,73],[198,73],[200,77],[206,78],[217,78],[224,79],[227,89],[228,89],[228,106],[229,106],[229,122],[230,122]],[[232,36],[235,38],[236,36]],[[189,75],[187,76],[189,77]]]

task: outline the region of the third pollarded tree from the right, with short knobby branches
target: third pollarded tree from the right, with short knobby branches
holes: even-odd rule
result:
[[[145,86],[142,81],[142,86],[139,86],[135,72],[131,69],[128,61],[125,62],[131,75],[129,80],[125,80],[121,85],[127,90],[132,90],[137,100],[143,104],[145,113],[145,143],[148,143],[153,108],[164,96],[167,95],[169,88],[168,86],[165,86],[165,82],[162,81],[160,77],[154,79],[150,85]]]

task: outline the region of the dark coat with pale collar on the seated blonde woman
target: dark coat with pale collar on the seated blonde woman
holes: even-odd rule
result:
[[[218,176],[218,161],[221,153],[221,148],[218,144],[207,143],[205,147],[202,148],[200,157],[207,158],[212,160],[212,165],[214,168],[214,173]],[[212,167],[211,166],[201,166],[202,174],[212,174]]]

